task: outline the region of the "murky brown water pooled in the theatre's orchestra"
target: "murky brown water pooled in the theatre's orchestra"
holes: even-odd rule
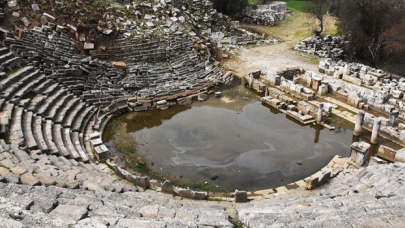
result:
[[[169,179],[207,181],[230,191],[298,181],[335,155],[348,157],[353,141],[369,141],[369,133],[354,138],[352,130],[338,125],[334,131],[302,126],[260,102],[238,112],[213,106],[212,99],[165,111],[128,113],[119,124],[135,138],[137,152],[146,155],[155,171]],[[107,141],[120,137],[105,135]]]

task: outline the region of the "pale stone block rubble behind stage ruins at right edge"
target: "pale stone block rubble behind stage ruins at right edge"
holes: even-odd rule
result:
[[[337,82],[346,82],[334,83],[332,90],[347,97],[349,104],[384,113],[399,110],[403,116],[405,79],[364,64],[331,59],[320,61],[318,68],[321,73],[333,75]]]

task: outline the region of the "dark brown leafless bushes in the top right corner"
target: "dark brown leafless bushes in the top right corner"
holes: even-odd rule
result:
[[[330,10],[350,40],[352,59],[400,73],[405,63],[404,1],[330,0]]]

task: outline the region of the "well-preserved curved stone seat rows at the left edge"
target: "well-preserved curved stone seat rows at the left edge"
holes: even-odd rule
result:
[[[47,87],[41,86],[42,83]],[[0,87],[5,88],[0,96],[1,133],[9,135],[12,143],[27,146],[29,150],[40,149],[50,154],[89,161],[84,152],[83,139],[70,133],[73,124],[76,131],[80,130],[80,121],[86,116],[81,113],[86,107],[85,103],[79,102],[78,98],[68,94],[33,66],[24,67],[1,80]],[[38,94],[17,107],[17,102],[31,91]],[[42,124],[46,120],[50,121]],[[62,131],[62,126],[58,124],[63,124],[65,129]]]

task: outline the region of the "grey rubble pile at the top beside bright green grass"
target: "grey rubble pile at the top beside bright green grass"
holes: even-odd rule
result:
[[[274,2],[268,5],[249,5],[235,18],[250,24],[274,26],[275,23],[285,19],[287,3]]]

